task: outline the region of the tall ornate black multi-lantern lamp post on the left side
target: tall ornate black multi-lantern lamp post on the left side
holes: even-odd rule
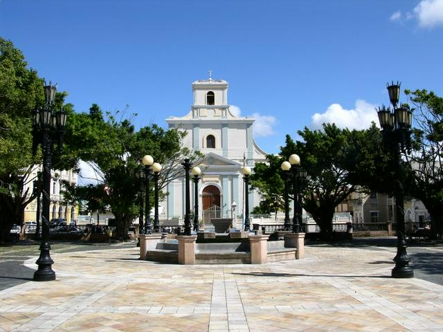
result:
[[[40,256],[35,262],[38,265],[34,273],[34,281],[48,282],[55,280],[55,272],[51,268],[54,261],[51,259],[49,245],[49,207],[51,205],[51,164],[53,156],[53,142],[57,140],[58,148],[63,145],[64,128],[66,126],[66,112],[54,111],[55,86],[44,86],[45,104],[41,109],[33,111],[33,147],[42,145],[43,150],[43,180],[42,180],[42,242]]]

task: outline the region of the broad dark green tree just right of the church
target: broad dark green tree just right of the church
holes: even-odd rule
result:
[[[368,183],[376,185],[372,176],[378,172],[377,162],[386,158],[379,149],[379,129],[374,124],[362,131],[323,124],[323,131],[305,127],[298,134],[302,140],[294,142],[287,135],[286,145],[280,147],[279,156],[267,156],[269,165],[257,163],[251,184],[262,193],[282,194],[284,183],[280,177],[280,164],[291,154],[298,154],[301,166],[308,174],[303,208],[320,226],[323,237],[330,237],[336,206],[360,186]],[[267,186],[266,181],[272,176],[280,179]]]

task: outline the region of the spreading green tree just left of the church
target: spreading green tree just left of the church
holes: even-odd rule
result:
[[[89,162],[102,176],[98,186],[105,183],[110,188],[108,194],[100,196],[100,202],[109,205],[116,216],[116,236],[120,239],[127,238],[129,225],[138,214],[135,174],[141,168],[141,159],[151,154],[156,162],[164,165],[159,187],[165,187],[174,177],[183,174],[183,167],[177,165],[184,156],[195,158],[195,154],[181,147],[185,135],[177,129],[165,130],[156,124],[136,131],[128,119],[116,120],[116,116],[107,113],[105,120],[96,104],[89,113],[73,114],[66,132],[70,156]],[[77,193],[71,189],[70,196],[81,199],[81,192],[81,187]],[[91,203],[91,197],[89,201]]]

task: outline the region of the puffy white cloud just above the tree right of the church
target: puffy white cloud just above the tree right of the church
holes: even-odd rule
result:
[[[356,100],[354,109],[343,109],[341,104],[331,104],[325,113],[315,113],[311,118],[312,129],[322,129],[323,123],[333,122],[343,129],[367,129],[372,121],[376,124],[379,122],[375,105],[364,100]]]

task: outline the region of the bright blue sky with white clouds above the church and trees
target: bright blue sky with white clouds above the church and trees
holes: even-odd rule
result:
[[[138,127],[188,113],[211,69],[269,153],[323,121],[367,127],[387,81],[443,95],[443,0],[0,0],[0,36],[76,111],[129,105]]]

